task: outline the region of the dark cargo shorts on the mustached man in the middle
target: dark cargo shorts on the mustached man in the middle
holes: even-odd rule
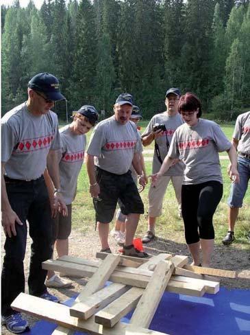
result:
[[[97,183],[100,187],[99,199],[93,198],[97,222],[109,223],[114,217],[118,199],[121,200],[121,212],[144,213],[144,206],[131,171],[125,174],[112,174],[97,167]]]

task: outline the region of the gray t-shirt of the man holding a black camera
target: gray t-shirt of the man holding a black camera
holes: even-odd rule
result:
[[[159,146],[160,157],[162,161],[164,161],[164,158],[166,157],[166,154],[168,153],[168,147],[166,145],[166,137],[170,145],[175,130],[183,124],[183,120],[182,120],[181,115],[179,115],[179,113],[173,116],[169,116],[167,112],[156,114],[150,120],[147,128],[142,134],[142,137],[149,135],[150,132],[153,131],[153,127],[155,126],[155,124],[164,124],[166,127],[166,131],[164,131],[163,135],[155,139],[155,142]],[[161,163],[154,150],[152,173],[153,174],[157,173],[160,170],[160,167],[161,167]],[[173,165],[172,167],[170,167],[170,169],[164,174],[164,176],[182,176],[183,171],[184,171],[184,163],[179,162]]]

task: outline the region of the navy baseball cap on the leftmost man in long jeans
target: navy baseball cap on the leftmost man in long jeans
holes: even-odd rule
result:
[[[29,80],[28,87],[34,91],[45,93],[49,100],[66,100],[66,98],[59,91],[58,78],[50,73],[38,73],[31,80]]]

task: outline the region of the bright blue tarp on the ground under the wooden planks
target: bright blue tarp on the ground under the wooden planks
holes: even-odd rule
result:
[[[122,321],[129,322],[131,315]],[[51,335],[55,327],[39,321],[25,334]],[[171,335],[250,335],[250,290],[221,288],[200,298],[165,292],[149,328]],[[75,332],[82,334],[86,333]]]

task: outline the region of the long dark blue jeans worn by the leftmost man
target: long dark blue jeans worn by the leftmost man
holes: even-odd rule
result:
[[[36,181],[6,181],[10,205],[23,226],[16,224],[16,236],[6,237],[5,256],[1,275],[2,315],[13,313],[10,304],[19,293],[25,292],[23,259],[27,242],[27,222],[32,238],[29,264],[29,293],[40,296],[46,290],[47,270],[42,270],[42,262],[52,255],[52,219],[49,196],[43,176]]]

